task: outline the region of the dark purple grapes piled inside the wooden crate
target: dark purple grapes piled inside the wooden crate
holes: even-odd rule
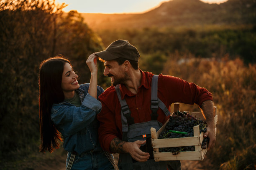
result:
[[[207,124],[205,120],[197,119],[187,112],[174,112],[174,114],[170,116],[170,120],[166,124],[165,129],[159,135],[159,139],[192,137],[194,136],[193,127],[196,125],[199,125],[200,133],[206,132]],[[206,149],[207,143],[208,138],[204,138],[201,148]],[[195,146],[159,148],[159,152],[171,152],[173,155],[177,155],[183,151],[195,151]]]

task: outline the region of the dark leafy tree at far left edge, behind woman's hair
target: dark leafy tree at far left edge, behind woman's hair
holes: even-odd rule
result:
[[[34,10],[26,10],[27,3],[1,1],[0,5],[1,154],[17,149],[29,152],[39,137],[37,73],[40,60],[52,52],[49,23],[54,19],[54,6],[48,3],[43,9],[35,1],[31,4]]]

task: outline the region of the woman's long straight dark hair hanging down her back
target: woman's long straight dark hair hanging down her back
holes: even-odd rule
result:
[[[69,60],[59,55],[42,61],[39,67],[40,152],[48,150],[52,153],[55,148],[59,148],[58,140],[62,140],[59,131],[51,121],[51,107],[54,103],[64,100],[61,80],[66,62],[70,64]]]

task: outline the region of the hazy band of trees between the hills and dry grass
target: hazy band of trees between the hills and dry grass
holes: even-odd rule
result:
[[[129,40],[141,52],[141,60],[143,55],[168,56],[178,51],[202,58],[229,55],[230,59],[240,57],[246,64],[256,63],[256,25],[113,29],[99,30],[98,34],[106,47],[117,39]]]

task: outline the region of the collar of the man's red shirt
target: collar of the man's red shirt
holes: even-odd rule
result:
[[[145,72],[143,72],[141,69],[139,69],[141,72],[141,85],[138,87],[138,92],[141,90],[141,88],[145,88],[145,89],[149,89],[149,76],[145,74]],[[134,96],[136,94],[133,94],[130,90],[128,90],[128,88],[123,85],[120,84],[120,93],[121,93],[121,98],[123,99],[125,97],[125,95],[128,96]]]

